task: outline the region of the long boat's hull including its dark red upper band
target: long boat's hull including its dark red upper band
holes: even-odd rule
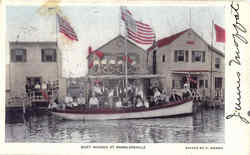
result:
[[[193,113],[193,100],[169,102],[149,108],[121,108],[121,109],[66,109],[55,110],[53,115],[67,120],[115,120],[159,118]]]

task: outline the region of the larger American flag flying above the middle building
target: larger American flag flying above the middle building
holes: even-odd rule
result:
[[[155,33],[151,26],[135,20],[126,7],[121,7],[121,18],[125,22],[129,39],[139,44],[152,44],[154,42]]]

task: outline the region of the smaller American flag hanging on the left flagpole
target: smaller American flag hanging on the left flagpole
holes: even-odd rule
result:
[[[56,15],[59,23],[59,32],[64,34],[70,40],[78,41],[77,35],[74,29],[71,27],[70,23],[63,19],[60,15]]]

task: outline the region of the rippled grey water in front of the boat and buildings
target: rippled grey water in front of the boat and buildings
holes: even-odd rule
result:
[[[6,123],[5,135],[6,142],[224,143],[224,110],[201,110],[176,118],[110,121],[65,121],[37,114],[25,123]]]

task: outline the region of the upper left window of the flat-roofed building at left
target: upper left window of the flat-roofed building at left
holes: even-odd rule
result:
[[[12,49],[11,50],[11,61],[12,62],[26,62],[27,55],[26,49]]]

